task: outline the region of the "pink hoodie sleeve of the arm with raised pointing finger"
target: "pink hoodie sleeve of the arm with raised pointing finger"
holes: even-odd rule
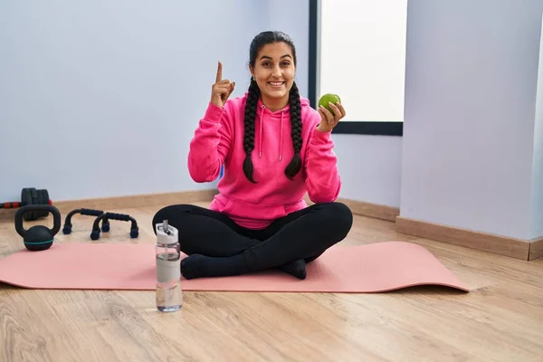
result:
[[[214,181],[230,151],[233,135],[229,103],[220,108],[210,102],[198,123],[188,151],[188,172],[195,182]]]

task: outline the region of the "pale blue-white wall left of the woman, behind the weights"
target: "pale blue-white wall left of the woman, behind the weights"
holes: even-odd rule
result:
[[[219,59],[246,90],[266,16],[243,0],[0,2],[0,202],[213,187],[188,175],[188,143]]]

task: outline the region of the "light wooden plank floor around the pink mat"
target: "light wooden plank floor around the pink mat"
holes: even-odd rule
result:
[[[111,211],[135,217],[139,237],[129,239],[128,223],[112,224],[100,243],[155,242],[150,222],[157,207]],[[61,232],[57,240],[89,243],[91,223],[76,215],[71,235]],[[543,360],[543,259],[523,262],[394,230],[392,223],[355,216],[342,243],[419,243],[473,291],[185,291],[182,310],[161,314],[153,291],[33,291],[0,284],[0,361]],[[14,224],[0,222],[0,257],[22,247]]]

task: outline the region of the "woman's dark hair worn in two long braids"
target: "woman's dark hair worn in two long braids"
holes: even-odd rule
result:
[[[286,43],[291,47],[294,64],[296,65],[296,48],[289,35],[281,32],[262,32],[254,37],[249,50],[249,63],[254,67],[256,56],[265,44],[269,43]],[[253,178],[253,167],[251,160],[251,153],[254,149],[254,121],[256,119],[256,108],[258,100],[260,98],[261,91],[258,84],[254,79],[251,80],[249,85],[249,91],[247,95],[247,102],[245,104],[245,116],[244,116],[244,137],[243,137],[243,149],[245,151],[245,159],[243,161],[243,173],[251,181],[256,184]],[[289,94],[289,105],[291,111],[291,138],[292,147],[294,148],[294,156],[291,159],[289,165],[285,168],[285,175],[289,179],[293,179],[301,168],[301,104],[300,104],[300,92],[296,85],[296,82],[292,83],[291,91]]]

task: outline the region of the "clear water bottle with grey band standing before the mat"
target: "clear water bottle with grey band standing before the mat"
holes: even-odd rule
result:
[[[176,311],[183,304],[181,290],[181,251],[177,229],[165,220],[155,226],[157,232],[157,310]]]

